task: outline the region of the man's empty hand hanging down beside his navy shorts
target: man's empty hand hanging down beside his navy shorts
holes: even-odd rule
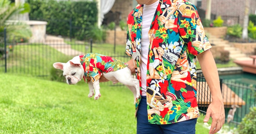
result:
[[[223,102],[212,102],[209,105],[203,121],[208,122],[210,117],[212,117],[212,125],[209,134],[215,134],[222,128],[222,125],[225,123],[225,111]]]

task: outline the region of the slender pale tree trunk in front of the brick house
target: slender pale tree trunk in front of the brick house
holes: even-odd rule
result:
[[[244,19],[243,19],[243,31],[242,38],[248,39],[248,24],[249,24],[249,8],[250,8],[250,0],[244,0]]]

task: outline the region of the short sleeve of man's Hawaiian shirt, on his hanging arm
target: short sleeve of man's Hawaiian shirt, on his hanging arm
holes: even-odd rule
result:
[[[180,11],[180,34],[187,44],[189,53],[197,55],[212,46],[205,35],[201,19],[194,5],[187,2],[179,6]]]

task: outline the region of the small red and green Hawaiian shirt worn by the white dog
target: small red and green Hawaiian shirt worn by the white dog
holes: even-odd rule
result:
[[[84,81],[91,80],[93,83],[100,79],[103,72],[112,72],[126,67],[128,64],[112,57],[97,53],[79,55],[80,62],[84,67]]]

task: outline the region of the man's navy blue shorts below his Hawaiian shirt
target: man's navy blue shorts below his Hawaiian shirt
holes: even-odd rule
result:
[[[196,120],[186,120],[172,124],[148,123],[146,96],[142,96],[137,111],[137,134],[195,134]]]

